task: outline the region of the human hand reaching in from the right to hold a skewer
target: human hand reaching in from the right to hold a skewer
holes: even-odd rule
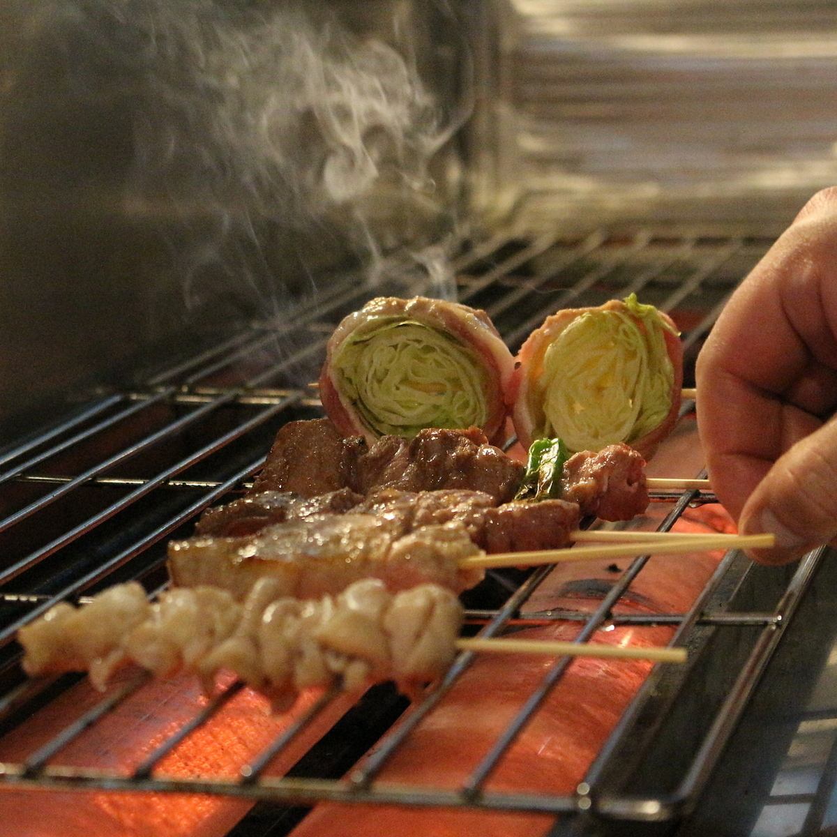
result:
[[[837,187],[811,198],[732,295],[697,360],[711,485],[752,552],[837,543]]]

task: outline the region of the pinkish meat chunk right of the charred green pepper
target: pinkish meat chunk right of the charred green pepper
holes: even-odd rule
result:
[[[610,444],[598,454],[573,454],[561,482],[563,499],[578,503],[583,516],[626,521],[648,507],[645,460],[627,444]]]

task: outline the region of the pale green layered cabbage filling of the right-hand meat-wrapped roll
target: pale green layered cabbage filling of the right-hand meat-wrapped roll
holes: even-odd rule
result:
[[[635,295],[624,310],[586,311],[547,348],[535,397],[543,404],[538,435],[567,448],[599,450],[657,427],[671,408],[675,371],[654,306]]]

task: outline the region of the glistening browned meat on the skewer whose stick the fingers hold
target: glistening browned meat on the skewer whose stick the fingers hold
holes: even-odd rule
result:
[[[380,578],[393,590],[432,582],[460,592],[483,573],[462,570],[459,561],[479,554],[455,521],[405,533],[398,519],[347,512],[278,523],[249,537],[172,542],[168,568],[177,585],[210,584],[236,598],[264,577],[281,583],[281,595],[295,598],[339,593],[358,578]]]

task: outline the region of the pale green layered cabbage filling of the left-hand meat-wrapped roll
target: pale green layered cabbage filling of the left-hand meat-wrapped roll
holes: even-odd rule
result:
[[[337,349],[332,372],[378,435],[411,439],[426,427],[482,427],[488,419],[488,378],[476,352],[418,321],[360,326]]]

